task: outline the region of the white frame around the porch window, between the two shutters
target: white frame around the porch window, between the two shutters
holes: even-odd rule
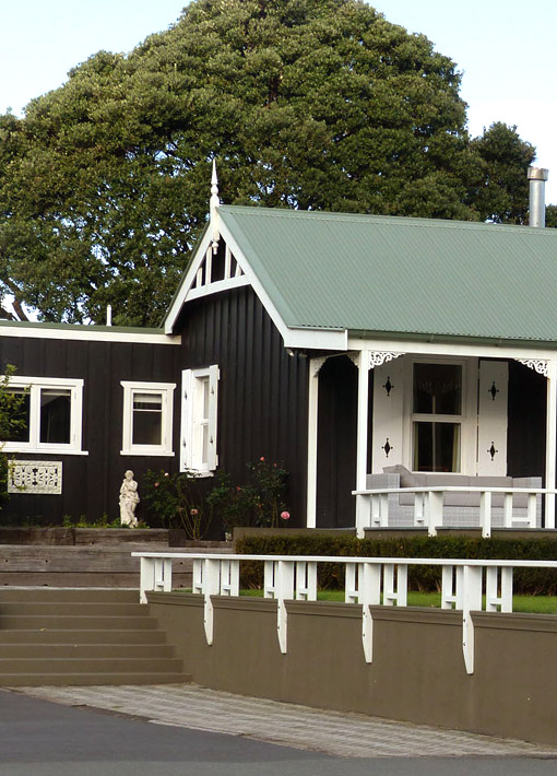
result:
[[[462,367],[462,405],[460,415],[430,415],[414,412],[414,364],[451,364]],[[476,421],[477,421],[477,358],[451,358],[420,356],[407,358],[404,397],[404,460],[410,471],[414,469],[414,422],[448,422],[460,425],[460,471],[443,472],[443,475],[476,472]],[[425,473],[425,472],[416,472]]]

